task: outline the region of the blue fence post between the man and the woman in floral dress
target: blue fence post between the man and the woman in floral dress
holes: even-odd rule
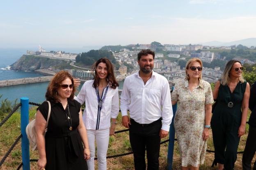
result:
[[[174,87],[172,87],[174,90]],[[174,152],[174,138],[175,138],[175,130],[174,130],[174,116],[177,111],[177,103],[172,105],[173,117],[171,120],[170,130],[169,130],[169,144],[168,144],[168,154],[167,154],[167,169],[172,169],[172,159],[173,159],[173,152]]]

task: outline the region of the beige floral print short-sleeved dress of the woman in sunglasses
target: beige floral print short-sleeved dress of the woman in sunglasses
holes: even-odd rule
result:
[[[207,140],[203,141],[205,126],[205,105],[213,104],[211,86],[204,80],[191,92],[188,80],[182,79],[174,86],[171,100],[178,102],[174,118],[174,128],[178,139],[181,164],[184,167],[197,167],[203,164],[206,154]]]

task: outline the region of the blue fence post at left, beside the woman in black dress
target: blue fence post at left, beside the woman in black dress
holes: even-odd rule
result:
[[[21,151],[23,170],[30,170],[30,150],[29,141],[27,139],[26,127],[29,122],[29,105],[28,98],[21,97]]]

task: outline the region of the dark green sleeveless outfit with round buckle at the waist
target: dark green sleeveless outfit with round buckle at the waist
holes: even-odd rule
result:
[[[211,126],[215,161],[224,164],[226,170],[233,170],[237,159],[240,138],[238,129],[242,118],[242,100],[247,82],[238,82],[233,93],[229,86],[219,86],[217,104],[213,111]]]

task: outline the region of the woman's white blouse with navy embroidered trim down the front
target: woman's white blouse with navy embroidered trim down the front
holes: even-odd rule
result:
[[[92,86],[94,79],[85,82],[75,98],[80,104],[85,102],[83,121],[86,129],[107,129],[110,127],[110,117],[117,118],[119,113],[118,87],[116,89],[108,87],[102,109],[98,109],[98,98],[95,88]],[[106,91],[103,90],[102,95]]]

